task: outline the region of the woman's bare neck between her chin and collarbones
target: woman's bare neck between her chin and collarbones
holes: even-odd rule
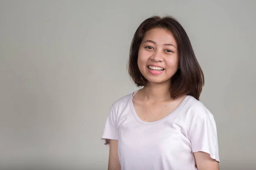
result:
[[[154,84],[148,82],[142,89],[142,96],[146,100],[163,101],[171,99],[170,97],[170,83]]]

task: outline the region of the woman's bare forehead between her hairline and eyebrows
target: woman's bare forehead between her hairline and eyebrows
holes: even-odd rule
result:
[[[177,45],[172,32],[166,28],[153,28],[147,31],[143,37],[143,41],[145,40],[152,40],[158,44],[172,43],[173,45]]]

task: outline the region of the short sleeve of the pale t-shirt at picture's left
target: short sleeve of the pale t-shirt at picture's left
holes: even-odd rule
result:
[[[101,139],[103,140],[104,144],[108,146],[108,139],[118,140],[118,130],[116,128],[116,114],[113,111],[113,107],[111,107],[108,113],[108,118]]]

